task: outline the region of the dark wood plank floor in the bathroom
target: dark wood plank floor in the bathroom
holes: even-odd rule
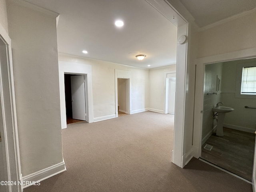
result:
[[[204,149],[209,144],[211,151]],[[252,181],[255,134],[224,128],[224,136],[213,134],[202,146],[201,158]]]

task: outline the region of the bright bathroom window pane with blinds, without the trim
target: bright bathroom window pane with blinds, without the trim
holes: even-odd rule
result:
[[[243,67],[241,94],[256,95],[256,67]]]

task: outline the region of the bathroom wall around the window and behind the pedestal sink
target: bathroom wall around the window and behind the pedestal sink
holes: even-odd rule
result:
[[[256,110],[247,109],[244,106],[256,107],[256,99],[235,97],[237,66],[249,61],[254,61],[256,64],[256,59],[224,62],[221,100],[224,102],[224,106],[234,108],[234,111],[226,114],[224,124],[231,125],[231,127],[249,128],[250,132],[254,132]]]

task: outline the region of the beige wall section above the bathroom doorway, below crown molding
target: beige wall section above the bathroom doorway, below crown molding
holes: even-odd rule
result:
[[[254,48],[255,23],[253,12],[199,32],[198,58]]]

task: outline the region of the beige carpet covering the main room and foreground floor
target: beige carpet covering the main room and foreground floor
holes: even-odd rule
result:
[[[171,162],[174,116],[154,112],[64,129],[67,171],[24,192],[251,192],[252,186],[193,158]]]

